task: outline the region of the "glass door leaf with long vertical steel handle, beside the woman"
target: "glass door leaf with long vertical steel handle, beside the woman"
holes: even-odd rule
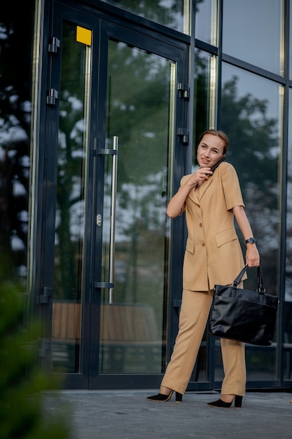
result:
[[[146,50],[147,39],[138,47],[134,36],[106,22],[103,28],[106,73],[100,76],[99,96],[104,93],[105,105],[104,119],[97,121],[97,145],[102,145],[97,169],[104,172],[97,177],[95,229],[95,249],[101,248],[102,255],[92,299],[90,332],[98,352],[92,343],[90,386],[154,386],[169,354],[170,225],[165,212],[178,62],[165,55],[162,44],[154,53]],[[105,128],[102,134],[99,126]]]

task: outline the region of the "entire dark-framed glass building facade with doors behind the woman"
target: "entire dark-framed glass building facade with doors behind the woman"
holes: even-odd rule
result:
[[[54,12],[43,15],[53,3]],[[43,357],[53,372],[109,374],[113,388],[139,387],[130,374],[150,387],[149,377],[160,380],[177,331],[184,248],[176,237],[186,232],[183,221],[169,224],[165,206],[196,164],[200,133],[218,128],[230,138],[227,159],[239,175],[267,292],[280,301],[272,346],[246,346],[248,388],[291,387],[291,2],[72,3],[78,13],[72,8],[62,26],[69,1],[27,1],[0,18],[1,259],[41,316],[50,339]],[[91,29],[92,40],[76,41],[76,25]],[[96,285],[110,285],[114,136],[118,219],[109,311],[108,290],[99,294]],[[246,286],[255,277],[251,271]],[[132,338],[126,327],[134,328]],[[192,389],[217,388],[218,340],[206,333],[199,357]],[[105,387],[100,382],[94,385]]]

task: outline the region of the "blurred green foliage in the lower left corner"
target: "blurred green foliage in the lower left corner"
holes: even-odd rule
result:
[[[39,370],[38,335],[39,324],[36,321],[29,327],[25,325],[25,300],[20,285],[11,281],[7,274],[1,274],[1,439],[69,438],[62,407],[53,419],[44,407],[44,392],[56,389],[57,383],[50,374]]]

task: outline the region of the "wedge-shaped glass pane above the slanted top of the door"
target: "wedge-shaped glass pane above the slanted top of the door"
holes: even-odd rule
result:
[[[102,0],[105,3],[117,6],[125,11],[132,12],[140,17],[171,27],[179,32],[188,34],[189,1],[181,0]]]

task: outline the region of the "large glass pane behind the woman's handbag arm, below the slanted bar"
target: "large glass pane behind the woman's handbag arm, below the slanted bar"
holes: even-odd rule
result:
[[[258,239],[267,292],[278,295],[283,89],[277,83],[224,63],[222,81],[221,128],[230,137],[227,160],[239,175],[246,215]],[[244,243],[242,248],[245,252]],[[250,269],[248,276],[245,285],[253,288],[256,269]],[[250,381],[276,379],[276,348],[246,345]]]

